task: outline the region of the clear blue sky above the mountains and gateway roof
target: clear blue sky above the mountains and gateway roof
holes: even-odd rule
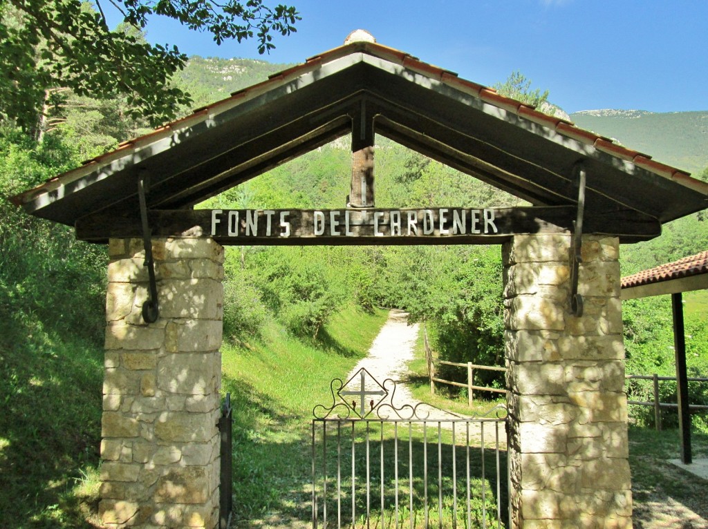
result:
[[[362,28],[477,83],[521,71],[566,112],[708,110],[707,0],[280,2],[295,5],[302,21],[294,35],[275,37],[270,55],[258,55],[255,41],[217,46],[206,33],[158,18],[147,37],[188,55],[297,63]]]

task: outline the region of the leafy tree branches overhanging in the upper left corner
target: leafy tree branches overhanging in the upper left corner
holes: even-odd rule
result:
[[[123,23],[110,30],[105,13]],[[171,86],[187,56],[176,46],[149,44],[143,35],[154,16],[173,18],[215,42],[255,38],[269,52],[273,33],[290,35],[300,17],[292,6],[265,0],[0,0],[0,118],[34,131],[53,88],[93,98],[127,98],[128,112],[156,126],[190,103]]]

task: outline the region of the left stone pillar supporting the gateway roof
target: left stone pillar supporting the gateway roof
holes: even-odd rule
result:
[[[108,528],[219,522],[223,248],[153,241],[159,318],[147,325],[142,240],[109,243],[101,428]]]

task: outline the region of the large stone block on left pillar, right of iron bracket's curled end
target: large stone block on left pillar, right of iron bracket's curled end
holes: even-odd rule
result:
[[[162,318],[220,320],[223,316],[224,289],[215,279],[161,281],[158,298]]]

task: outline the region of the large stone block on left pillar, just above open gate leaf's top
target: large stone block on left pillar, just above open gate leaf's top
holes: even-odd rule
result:
[[[221,383],[219,359],[216,352],[164,356],[157,365],[158,388],[183,395],[215,395]]]

